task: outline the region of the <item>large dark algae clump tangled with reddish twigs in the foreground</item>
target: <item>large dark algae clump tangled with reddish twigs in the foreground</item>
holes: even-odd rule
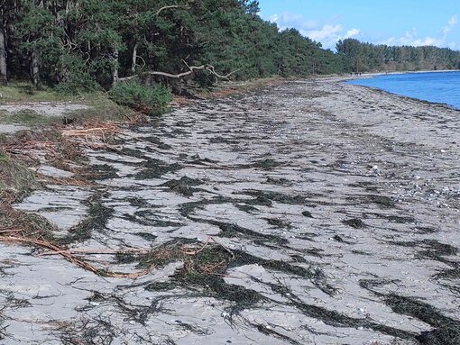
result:
[[[262,295],[244,286],[227,284],[223,277],[225,277],[225,272],[229,268],[257,264],[269,271],[273,270],[293,276],[306,277],[329,295],[334,294],[334,289],[327,287],[326,277],[318,268],[301,268],[284,261],[260,259],[239,250],[230,251],[214,244],[205,244],[204,247],[195,246],[193,247],[194,250],[187,254],[184,253],[184,247],[181,247],[187,242],[189,244],[191,243],[190,241],[170,242],[162,246],[162,248],[157,249],[158,251],[152,251],[152,253],[144,258],[143,265],[152,263],[165,265],[170,262],[171,259],[180,259],[184,262],[183,267],[176,271],[172,280],[168,282],[152,282],[145,287],[147,290],[157,292],[170,291],[175,286],[182,286],[187,289],[196,290],[199,295],[208,295],[217,299],[225,299],[226,301],[233,302],[234,304],[226,308],[230,322],[234,322],[235,316],[244,309],[256,308],[261,306],[261,304],[279,304],[279,302],[272,300],[270,296]],[[191,249],[190,247],[187,248],[188,250]],[[166,250],[167,254],[165,254],[164,250]],[[252,277],[252,279],[270,287],[273,293],[287,298],[288,302],[284,304],[294,306],[300,313],[308,317],[314,317],[329,325],[335,327],[367,328],[400,339],[417,339],[418,335],[410,331],[402,331],[367,319],[350,317],[343,313],[327,310],[317,305],[305,304],[298,296],[294,295],[287,286],[264,283],[255,277]],[[261,324],[256,323],[253,323],[252,326],[256,329],[263,327]],[[275,333],[273,333],[273,335],[276,335]],[[281,334],[278,334],[278,336],[281,336]],[[290,342],[296,343],[295,341],[296,340],[292,340]],[[448,344],[453,343],[450,342]]]

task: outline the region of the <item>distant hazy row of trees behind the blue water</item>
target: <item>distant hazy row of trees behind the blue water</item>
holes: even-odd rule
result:
[[[460,51],[426,47],[390,47],[354,39],[338,41],[337,54],[354,72],[460,69]]]

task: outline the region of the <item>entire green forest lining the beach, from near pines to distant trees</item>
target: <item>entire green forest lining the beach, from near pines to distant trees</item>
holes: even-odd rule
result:
[[[336,52],[263,21],[253,0],[0,0],[0,83],[78,93],[187,81],[460,68],[460,52],[353,39]],[[180,90],[173,90],[179,92]]]

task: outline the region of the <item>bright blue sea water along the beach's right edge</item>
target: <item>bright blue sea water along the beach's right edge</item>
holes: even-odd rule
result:
[[[460,72],[428,72],[357,78],[348,84],[371,86],[424,101],[445,103],[460,109]]]

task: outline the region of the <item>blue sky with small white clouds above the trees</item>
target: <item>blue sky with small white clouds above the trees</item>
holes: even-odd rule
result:
[[[264,20],[296,28],[325,48],[354,38],[460,50],[460,0],[259,0],[259,7]]]

